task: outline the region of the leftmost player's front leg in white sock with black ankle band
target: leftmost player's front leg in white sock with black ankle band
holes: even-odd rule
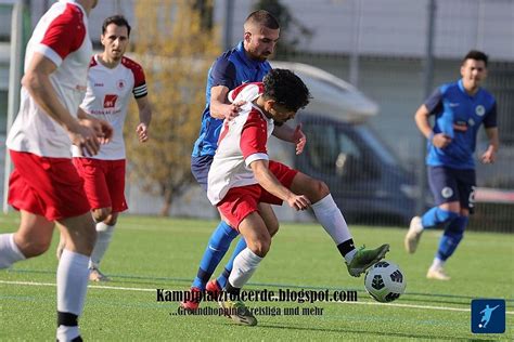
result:
[[[57,221],[66,246],[57,266],[57,340],[70,341],[79,336],[88,288],[88,263],[97,234],[90,212]]]

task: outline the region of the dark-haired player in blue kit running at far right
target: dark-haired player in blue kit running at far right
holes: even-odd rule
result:
[[[480,88],[487,77],[488,56],[470,51],[461,65],[462,78],[439,87],[415,113],[419,130],[428,140],[428,183],[436,206],[414,216],[404,238],[406,249],[414,253],[424,229],[444,227],[439,248],[426,277],[449,280],[444,265],[455,251],[473,213],[476,185],[476,135],[484,124],[489,146],[481,162],[492,163],[499,148],[497,104],[494,97]],[[429,117],[435,117],[431,127]]]

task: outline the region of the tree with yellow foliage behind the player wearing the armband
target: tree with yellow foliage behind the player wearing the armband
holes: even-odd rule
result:
[[[150,141],[133,136],[139,118],[127,118],[130,181],[163,198],[163,215],[193,182],[191,150],[205,106],[207,70],[219,54],[217,32],[205,25],[205,8],[187,0],[136,2],[134,53],[149,86],[153,118]],[[132,113],[136,106],[132,106]]]

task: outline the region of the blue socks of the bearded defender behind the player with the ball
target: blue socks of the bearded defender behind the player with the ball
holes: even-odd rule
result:
[[[202,256],[202,261],[200,262],[198,273],[196,275],[196,278],[194,278],[193,280],[192,287],[196,287],[200,290],[205,290],[205,285],[207,284],[207,281],[209,281],[213,272],[216,269],[216,266],[218,266],[219,262],[221,261],[221,259],[223,259],[224,254],[229,250],[230,242],[232,242],[232,240],[239,233],[232,227],[230,227],[230,225],[228,225],[224,221],[221,221],[219,223],[218,227],[210,236],[207,248],[205,249],[204,255]],[[232,256],[229,262],[230,269],[232,269],[233,259],[234,256]]]

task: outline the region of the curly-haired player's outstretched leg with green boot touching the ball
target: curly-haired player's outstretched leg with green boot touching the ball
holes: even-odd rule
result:
[[[279,180],[281,180],[280,174],[284,173],[284,171],[280,170],[283,167],[281,166],[275,169],[270,163],[270,170],[278,175]],[[281,180],[281,182],[283,181]],[[382,260],[389,250],[389,245],[382,245],[373,250],[364,250],[363,248],[357,250],[355,248],[354,238],[345,218],[339,208],[337,208],[324,182],[297,172],[291,182],[290,189],[295,194],[301,194],[309,198],[318,222],[334,240],[337,250],[345,259],[348,273],[351,276],[359,277],[371,265]]]

